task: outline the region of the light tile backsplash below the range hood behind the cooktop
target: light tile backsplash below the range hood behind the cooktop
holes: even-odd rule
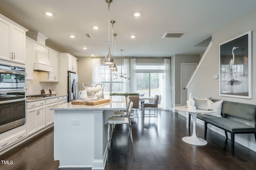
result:
[[[41,90],[43,90],[43,87],[48,87],[50,90],[55,90],[57,82],[40,82],[40,75],[42,74],[48,73],[34,71],[34,80],[26,81],[27,96],[41,94]]]

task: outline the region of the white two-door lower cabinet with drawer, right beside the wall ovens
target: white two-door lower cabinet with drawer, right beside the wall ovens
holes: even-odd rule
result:
[[[27,135],[45,127],[45,100],[27,103]]]

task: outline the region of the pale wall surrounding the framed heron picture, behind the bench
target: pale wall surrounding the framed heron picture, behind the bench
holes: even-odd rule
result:
[[[219,79],[213,79],[214,74],[219,75],[219,44],[232,39],[242,33],[252,30],[252,99],[232,98],[226,96],[219,96]],[[227,100],[240,103],[256,104],[256,9],[248,12],[244,16],[231,21],[226,26],[218,29],[212,33],[212,47],[206,55],[202,65],[197,74],[188,87],[188,94],[190,92],[193,97],[205,98],[212,96],[214,99]],[[242,114],[242,113],[241,113]],[[213,128],[216,131],[219,129]],[[224,131],[221,130],[222,135]],[[238,134],[235,141],[256,151],[256,142],[252,134]],[[223,141],[224,142],[224,141]]]

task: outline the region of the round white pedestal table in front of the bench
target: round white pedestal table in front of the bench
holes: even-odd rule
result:
[[[197,146],[204,146],[207,145],[207,141],[197,137],[196,135],[196,118],[198,113],[214,113],[217,110],[201,110],[201,109],[189,109],[188,107],[184,107],[184,106],[178,106],[178,107],[174,107],[175,110],[179,110],[179,111],[186,111],[189,112],[192,115],[192,119],[193,119],[193,133],[191,136],[187,136],[187,137],[183,137],[182,141],[191,144],[191,145],[197,145]]]

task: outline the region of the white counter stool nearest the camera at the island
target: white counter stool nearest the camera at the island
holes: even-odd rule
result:
[[[130,144],[132,147],[132,154],[133,154],[133,162],[134,162],[134,150],[133,150],[133,142],[132,142],[132,125],[130,120],[130,113],[132,111],[133,102],[130,102],[128,111],[127,111],[127,117],[110,117],[108,118],[108,154],[111,149],[111,140],[112,140],[112,133],[113,133],[113,125],[116,124],[126,124],[128,125],[128,135]],[[111,125],[111,127],[110,127]],[[108,154],[107,154],[107,162],[108,162]]]

